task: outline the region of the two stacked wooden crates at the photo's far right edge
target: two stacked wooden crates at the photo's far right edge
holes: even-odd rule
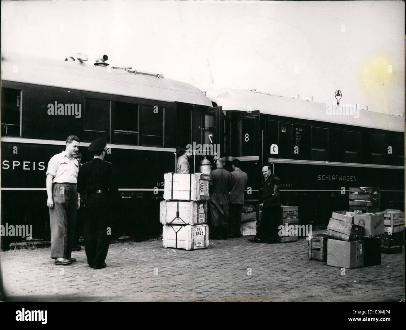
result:
[[[384,212],[385,236],[382,238],[383,253],[399,253],[403,250],[404,212],[387,209]]]

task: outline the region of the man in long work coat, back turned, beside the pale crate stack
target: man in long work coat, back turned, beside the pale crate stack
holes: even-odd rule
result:
[[[227,239],[229,217],[229,191],[231,189],[231,174],[225,170],[225,160],[218,158],[217,168],[210,173],[210,228],[214,239]]]

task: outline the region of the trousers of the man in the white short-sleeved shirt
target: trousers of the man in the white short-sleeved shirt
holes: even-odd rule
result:
[[[54,207],[50,209],[51,258],[71,258],[78,209],[76,184],[53,183],[52,194]]]

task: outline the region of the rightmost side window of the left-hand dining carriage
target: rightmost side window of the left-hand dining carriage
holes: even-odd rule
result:
[[[142,145],[164,146],[164,112],[161,106],[142,105]]]

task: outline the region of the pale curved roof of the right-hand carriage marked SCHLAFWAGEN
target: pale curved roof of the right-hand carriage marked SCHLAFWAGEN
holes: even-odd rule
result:
[[[341,123],[381,130],[404,132],[404,117],[387,115],[373,111],[359,110],[359,118],[353,115],[328,115],[325,103],[298,100],[296,98],[274,96],[251,90],[212,88],[207,91],[207,96],[222,106],[223,110],[252,111],[294,117],[331,123]]]

